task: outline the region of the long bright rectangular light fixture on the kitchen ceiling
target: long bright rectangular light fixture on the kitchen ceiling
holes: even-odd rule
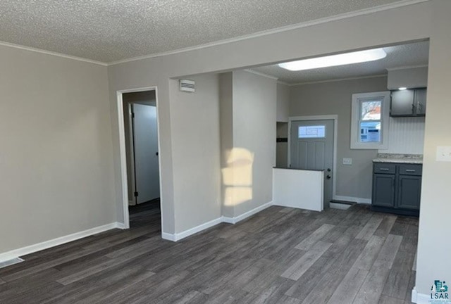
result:
[[[299,71],[311,70],[315,68],[327,68],[337,65],[347,65],[352,63],[363,63],[376,61],[385,58],[387,53],[383,49],[371,49],[365,51],[355,51],[352,53],[342,53],[338,55],[304,59],[288,63],[279,63],[280,68],[286,70]]]

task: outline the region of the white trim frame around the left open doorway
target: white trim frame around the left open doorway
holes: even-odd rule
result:
[[[160,151],[160,120],[158,106],[158,89],[157,87],[142,87],[136,89],[123,89],[116,91],[117,110],[118,110],[118,128],[119,128],[119,163],[121,165],[121,187],[122,187],[122,208],[123,208],[123,229],[130,228],[130,215],[128,213],[128,179],[127,179],[127,149],[125,145],[125,126],[124,126],[124,110],[123,110],[123,94],[135,93],[140,91],[155,91],[156,105],[156,133],[158,134],[158,150]],[[161,227],[163,227],[163,198],[161,197],[161,157],[158,158],[159,177],[160,177],[160,210],[161,210]]]

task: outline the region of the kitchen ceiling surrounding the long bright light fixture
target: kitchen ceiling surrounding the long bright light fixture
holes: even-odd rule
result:
[[[319,82],[323,80],[382,75],[386,74],[387,69],[389,68],[428,64],[429,42],[427,41],[390,46],[383,49],[387,53],[387,57],[368,63],[340,65],[331,68],[303,70],[299,72],[285,70],[278,65],[252,68],[252,70],[276,77],[282,82],[299,84],[304,82]]]

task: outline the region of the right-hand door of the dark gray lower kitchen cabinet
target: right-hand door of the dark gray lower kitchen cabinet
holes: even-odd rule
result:
[[[400,175],[398,184],[397,208],[420,208],[421,177]]]

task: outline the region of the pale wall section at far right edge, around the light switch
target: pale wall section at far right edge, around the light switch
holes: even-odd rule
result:
[[[451,1],[433,2],[431,46],[428,72],[428,108],[424,138],[423,184],[419,223],[416,289],[430,292],[433,280],[451,277],[451,163],[435,160],[437,146],[451,146]],[[443,261],[438,263],[435,261]],[[441,264],[441,265],[438,265]],[[445,279],[441,279],[444,281]],[[424,301],[426,303],[426,299]]]

